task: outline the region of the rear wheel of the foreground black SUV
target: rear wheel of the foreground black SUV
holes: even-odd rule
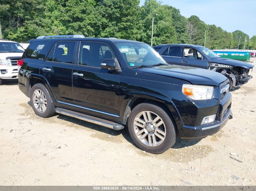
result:
[[[47,88],[43,84],[35,84],[31,88],[29,97],[32,108],[38,116],[50,117],[55,114],[54,103]]]

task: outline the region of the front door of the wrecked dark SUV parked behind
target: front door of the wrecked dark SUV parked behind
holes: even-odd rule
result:
[[[208,69],[208,61],[196,49],[183,47],[181,65]]]

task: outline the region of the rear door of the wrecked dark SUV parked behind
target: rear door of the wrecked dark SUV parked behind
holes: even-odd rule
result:
[[[161,56],[168,64],[180,65],[181,46],[168,46]]]

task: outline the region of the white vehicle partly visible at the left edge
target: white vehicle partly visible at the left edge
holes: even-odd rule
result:
[[[18,80],[17,61],[23,53],[24,49],[19,43],[0,40],[0,85],[5,80]]]

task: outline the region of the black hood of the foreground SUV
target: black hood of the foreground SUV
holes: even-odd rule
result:
[[[199,85],[218,86],[218,84],[227,80],[224,75],[218,72],[188,66],[168,65],[154,68],[138,68],[138,70],[141,72],[180,78],[189,81],[191,84]]]

